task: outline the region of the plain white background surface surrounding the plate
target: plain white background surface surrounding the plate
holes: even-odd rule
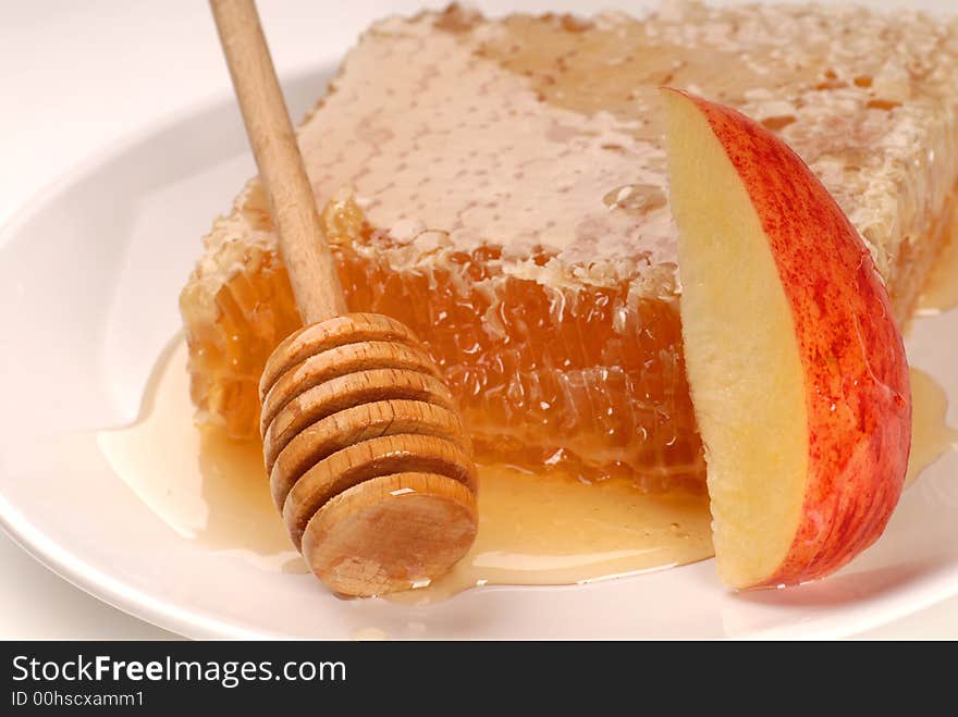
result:
[[[261,0],[260,12],[277,69],[290,75],[341,57],[377,16],[442,4]],[[535,10],[589,5],[567,0],[472,4],[489,13],[518,4]],[[948,0],[872,4],[944,8]],[[0,225],[84,158],[231,91],[201,0],[0,0]],[[173,636],[73,588],[2,533],[0,574],[0,638]],[[958,639],[958,601],[865,636]]]

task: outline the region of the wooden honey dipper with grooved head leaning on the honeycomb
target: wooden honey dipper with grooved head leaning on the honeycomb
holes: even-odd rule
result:
[[[260,381],[273,499],[312,572],[348,595],[446,572],[476,536],[476,468],[413,332],[347,313],[253,0],[210,0],[305,327]]]

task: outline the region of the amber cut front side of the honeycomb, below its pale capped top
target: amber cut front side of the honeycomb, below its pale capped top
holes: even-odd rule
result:
[[[242,207],[269,227],[257,182]],[[416,332],[444,371],[478,455],[590,480],[628,475],[647,487],[701,479],[674,302],[636,301],[619,286],[584,292],[563,311],[536,282],[503,277],[501,249],[488,245],[451,255],[428,275],[395,273],[376,260],[390,239],[351,196],[320,218],[349,309],[385,313]],[[380,246],[360,254],[357,244]],[[217,320],[201,316],[209,311],[196,286],[184,289],[181,306],[201,420],[253,438],[262,366],[302,322],[275,250],[244,248],[234,261],[216,295]],[[476,288],[490,277],[501,280],[494,294]],[[491,313],[492,334],[482,327]]]

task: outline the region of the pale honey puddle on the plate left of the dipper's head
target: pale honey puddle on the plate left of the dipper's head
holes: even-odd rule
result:
[[[308,572],[270,497],[261,445],[194,424],[185,353],[182,337],[170,343],[150,378],[139,420],[99,431],[98,448],[181,537],[269,572]]]

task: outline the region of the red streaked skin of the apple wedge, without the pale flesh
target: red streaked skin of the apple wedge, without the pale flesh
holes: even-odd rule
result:
[[[882,534],[905,482],[911,392],[901,334],[869,250],[784,141],[683,92],[705,115],[758,211],[795,319],[809,474],[795,540],[762,585],[828,574]]]

